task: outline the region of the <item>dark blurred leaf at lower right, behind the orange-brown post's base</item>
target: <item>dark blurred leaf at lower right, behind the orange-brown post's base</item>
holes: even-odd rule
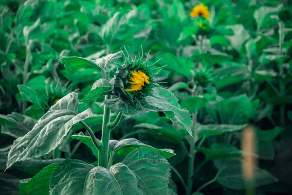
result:
[[[239,159],[215,160],[219,169],[216,180],[226,188],[243,190],[261,185],[267,185],[277,181],[268,171],[254,166],[254,182],[250,182],[242,173],[242,164],[246,163]]]

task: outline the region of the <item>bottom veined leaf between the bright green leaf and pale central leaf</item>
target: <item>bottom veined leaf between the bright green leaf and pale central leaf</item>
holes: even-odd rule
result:
[[[81,160],[63,160],[51,178],[50,195],[82,195],[84,183],[93,165]]]

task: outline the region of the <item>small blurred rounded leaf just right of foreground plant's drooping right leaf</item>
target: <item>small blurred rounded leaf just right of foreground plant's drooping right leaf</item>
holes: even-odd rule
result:
[[[182,102],[182,108],[185,108],[193,113],[196,113],[201,108],[208,105],[208,100],[201,97],[189,97]]]

